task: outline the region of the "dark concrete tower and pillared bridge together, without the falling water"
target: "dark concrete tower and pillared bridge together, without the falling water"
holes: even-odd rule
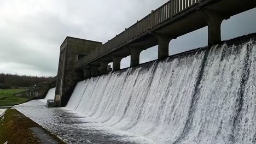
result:
[[[171,0],[105,44],[67,37],[60,46],[55,105],[67,105],[77,82],[120,70],[124,57],[136,67],[140,53],[158,45],[158,59],[167,58],[172,39],[202,27],[208,28],[208,46],[219,44],[222,21],[255,7],[252,0]]]

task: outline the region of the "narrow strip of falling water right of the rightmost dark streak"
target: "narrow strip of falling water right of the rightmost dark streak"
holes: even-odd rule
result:
[[[241,81],[240,97],[237,99],[237,110],[234,118],[233,139],[234,143],[256,142],[256,80],[255,62],[256,46],[255,39],[245,45],[247,55]]]

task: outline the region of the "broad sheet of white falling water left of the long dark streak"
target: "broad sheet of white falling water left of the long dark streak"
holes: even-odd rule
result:
[[[133,135],[173,140],[184,128],[204,55],[200,50],[85,80],[67,107]]]

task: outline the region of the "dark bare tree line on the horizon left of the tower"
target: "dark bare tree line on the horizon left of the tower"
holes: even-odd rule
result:
[[[0,73],[0,89],[30,87],[37,83],[47,82],[51,79],[53,79],[53,77]]]

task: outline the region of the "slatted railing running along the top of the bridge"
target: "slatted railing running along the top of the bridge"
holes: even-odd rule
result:
[[[103,44],[84,58],[77,62],[75,67],[82,67],[83,64],[93,61],[95,58],[104,55],[107,52],[117,48],[120,45],[127,43],[132,39],[135,39],[139,35],[148,32],[161,23],[171,19],[172,17],[182,13],[185,10],[190,9],[196,4],[206,0],[171,0],[163,4],[160,8],[153,10],[152,13],[144,17],[142,20],[137,21],[131,27],[125,29],[125,31],[118,34],[107,43]]]

